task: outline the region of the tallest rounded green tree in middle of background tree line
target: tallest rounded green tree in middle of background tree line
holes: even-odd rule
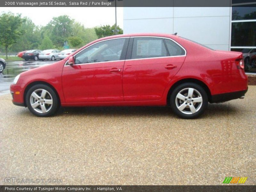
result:
[[[45,32],[49,34],[55,46],[63,46],[64,41],[68,41],[68,37],[72,36],[74,20],[68,15],[53,17],[45,27]]]

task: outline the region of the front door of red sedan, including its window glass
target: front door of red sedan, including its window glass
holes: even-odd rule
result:
[[[123,101],[122,75],[129,38],[93,44],[65,65],[62,86],[67,103]]]

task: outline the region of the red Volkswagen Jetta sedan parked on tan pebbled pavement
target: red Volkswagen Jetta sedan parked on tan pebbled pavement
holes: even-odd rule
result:
[[[51,65],[18,75],[12,102],[36,116],[59,106],[170,106],[182,118],[208,102],[244,98],[241,52],[215,51],[167,34],[109,36]]]

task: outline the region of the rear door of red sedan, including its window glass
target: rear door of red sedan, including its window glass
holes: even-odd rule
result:
[[[185,56],[186,50],[171,39],[131,38],[124,63],[124,100],[160,100]]]

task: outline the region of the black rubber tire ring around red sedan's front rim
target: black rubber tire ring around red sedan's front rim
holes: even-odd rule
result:
[[[51,95],[51,97],[52,97],[52,107],[49,109],[49,111],[47,111],[47,112],[45,112],[45,113],[37,112],[36,110],[34,110],[34,108],[31,106],[31,103],[30,103],[31,94],[32,94],[34,91],[40,90],[40,89],[46,90],[47,92],[50,93],[50,95]],[[48,95],[48,96],[49,96],[49,95]],[[47,98],[46,98],[46,99],[47,99]],[[38,103],[40,103],[39,100],[37,100],[37,101],[38,101]],[[26,104],[27,104],[27,106],[28,106],[29,111],[30,111],[31,113],[33,113],[34,115],[39,116],[39,117],[48,117],[48,116],[54,115],[54,114],[56,113],[56,111],[59,109],[59,106],[60,106],[60,104],[59,104],[59,99],[58,99],[58,97],[57,97],[55,91],[54,91],[51,87],[49,87],[49,86],[47,86],[47,85],[45,85],[45,84],[37,84],[37,85],[34,85],[34,86],[32,86],[32,87],[28,90],[28,92],[27,92],[27,94],[26,94]],[[41,104],[41,103],[40,103],[40,104]],[[40,106],[40,104],[39,104],[39,106]],[[40,107],[39,107],[39,106],[38,106],[38,108],[36,108],[37,110],[38,110],[38,109],[40,110],[41,106],[40,106]]]

